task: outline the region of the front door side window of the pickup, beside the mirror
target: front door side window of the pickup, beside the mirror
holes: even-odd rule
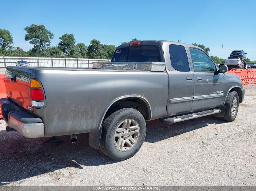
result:
[[[196,48],[189,48],[195,72],[216,72],[216,66],[209,56]]]

